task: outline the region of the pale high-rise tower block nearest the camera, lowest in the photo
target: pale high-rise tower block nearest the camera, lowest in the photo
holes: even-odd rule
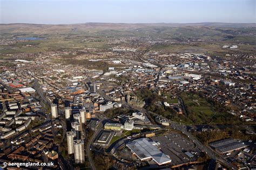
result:
[[[76,164],[83,164],[85,161],[84,141],[83,140],[75,140],[74,141],[74,153],[75,153]]]

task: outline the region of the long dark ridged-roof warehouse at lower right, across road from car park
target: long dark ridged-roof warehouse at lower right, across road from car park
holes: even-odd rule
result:
[[[246,145],[241,141],[235,140],[233,138],[227,138],[223,140],[214,141],[209,144],[211,147],[215,148],[219,153],[231,153],[241,148],[245,148]]]

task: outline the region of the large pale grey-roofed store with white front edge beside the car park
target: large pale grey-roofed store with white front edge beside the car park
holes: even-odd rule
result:
[[[171,163],[171,159],[158,150],[156,143],[149,138],[140,138],[126,144],[140,160],[153,159],[158,165]]]

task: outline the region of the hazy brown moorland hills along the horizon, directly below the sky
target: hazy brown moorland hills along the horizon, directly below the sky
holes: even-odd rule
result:
[[[0,24],[0,34],[12,36],[22,36],[22,34],[58,34],[72,32],[96,33],[104,30],[111,31],[137,31],[144,30],[149,32],[163,32],[175,28],[191,27],[200,31],[200,27],[208,27],[208,29],[241,29],[256,27],[256,24],[231,24],[231,23],[193,23],[193,24],[176,24],[176,23],[156,23],[156,24],[114,24],[114,23],[85,23],[85,24]],[[24,35],[25,36],[25,35]]]

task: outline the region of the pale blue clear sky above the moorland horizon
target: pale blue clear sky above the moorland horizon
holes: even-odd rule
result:
[[[0,23],[256,23],[256,0],[0,0]]]

